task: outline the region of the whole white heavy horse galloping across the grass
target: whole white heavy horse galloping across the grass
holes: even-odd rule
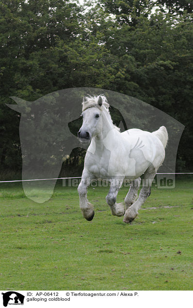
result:
[[[112,214],[124,216],[123,221],[129,223],[150,195],[152,181],[165,157],[167,130],[161,126],[153,133],[136,128],[121,133],[113,125],[104,95],[84,97],[81,115],[83,122],[78,138],[84,143],[91,141],[78,187],[82,214],[89,221],[93,219],[94,207],[87,200],[87,186],[93,179],[105,179],[110,182],[106,201]],[[142,174],[144,183],[137,199]],[[116,203],[124,179],[130,180],[129,192],[125,204]]]

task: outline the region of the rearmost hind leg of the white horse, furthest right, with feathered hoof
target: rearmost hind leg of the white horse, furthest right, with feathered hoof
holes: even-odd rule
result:
[[[156,175],[156,170],[154,167],[149,167],[144,173],[144,183],[143,187],[140,191],[139,198],[126,210],[123,221],[124,222],[132,222],[135,217],[138,215],[138,210],[145,202],[147,197],[149,197],[151,193],[151,185],[153,179]]]

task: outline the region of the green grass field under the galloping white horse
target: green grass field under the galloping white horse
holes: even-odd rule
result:
[[[0,185],[0,289],[193,290],[193,178],[153,187],[131,224],[111,215],[107,192],[89,188],[88,222],[76,188],[58,183],[39,204]]]

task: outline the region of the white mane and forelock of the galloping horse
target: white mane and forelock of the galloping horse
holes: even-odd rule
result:
[[[98,105],[99,97],[102,98],[102,105],[101,106]],[[113,120],[112,120],[111,114],[109,112],[110,105],[108,104],[108,101],[107,101],[107,98],[105,97],[105,95],[100,94],[98,96],[95,96],[95,95],[94,96],[91,96],[91,95],[84,96],[83,101],[82,101],[82,111],[84,111],[88,108],[91,108],[91,107],[96,107],[96,108],[100,109],[101,111],[105,111],[107,116],[108,116],[109,121],[113,124]],[[116,125],[113,124],[113,126],[117,130],[120,130],[120,128],[117,127]]]

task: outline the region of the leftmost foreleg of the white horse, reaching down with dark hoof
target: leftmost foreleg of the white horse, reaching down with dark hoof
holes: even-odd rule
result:
[[[87,186],[91,183],[91,177],[89,174],[83,170],[82,179],[78,186],[78,193],[80,198],[80,209],[82,211],[82,215],[87,220],[91,221],[95,215],[94,206],[87,199]]]

